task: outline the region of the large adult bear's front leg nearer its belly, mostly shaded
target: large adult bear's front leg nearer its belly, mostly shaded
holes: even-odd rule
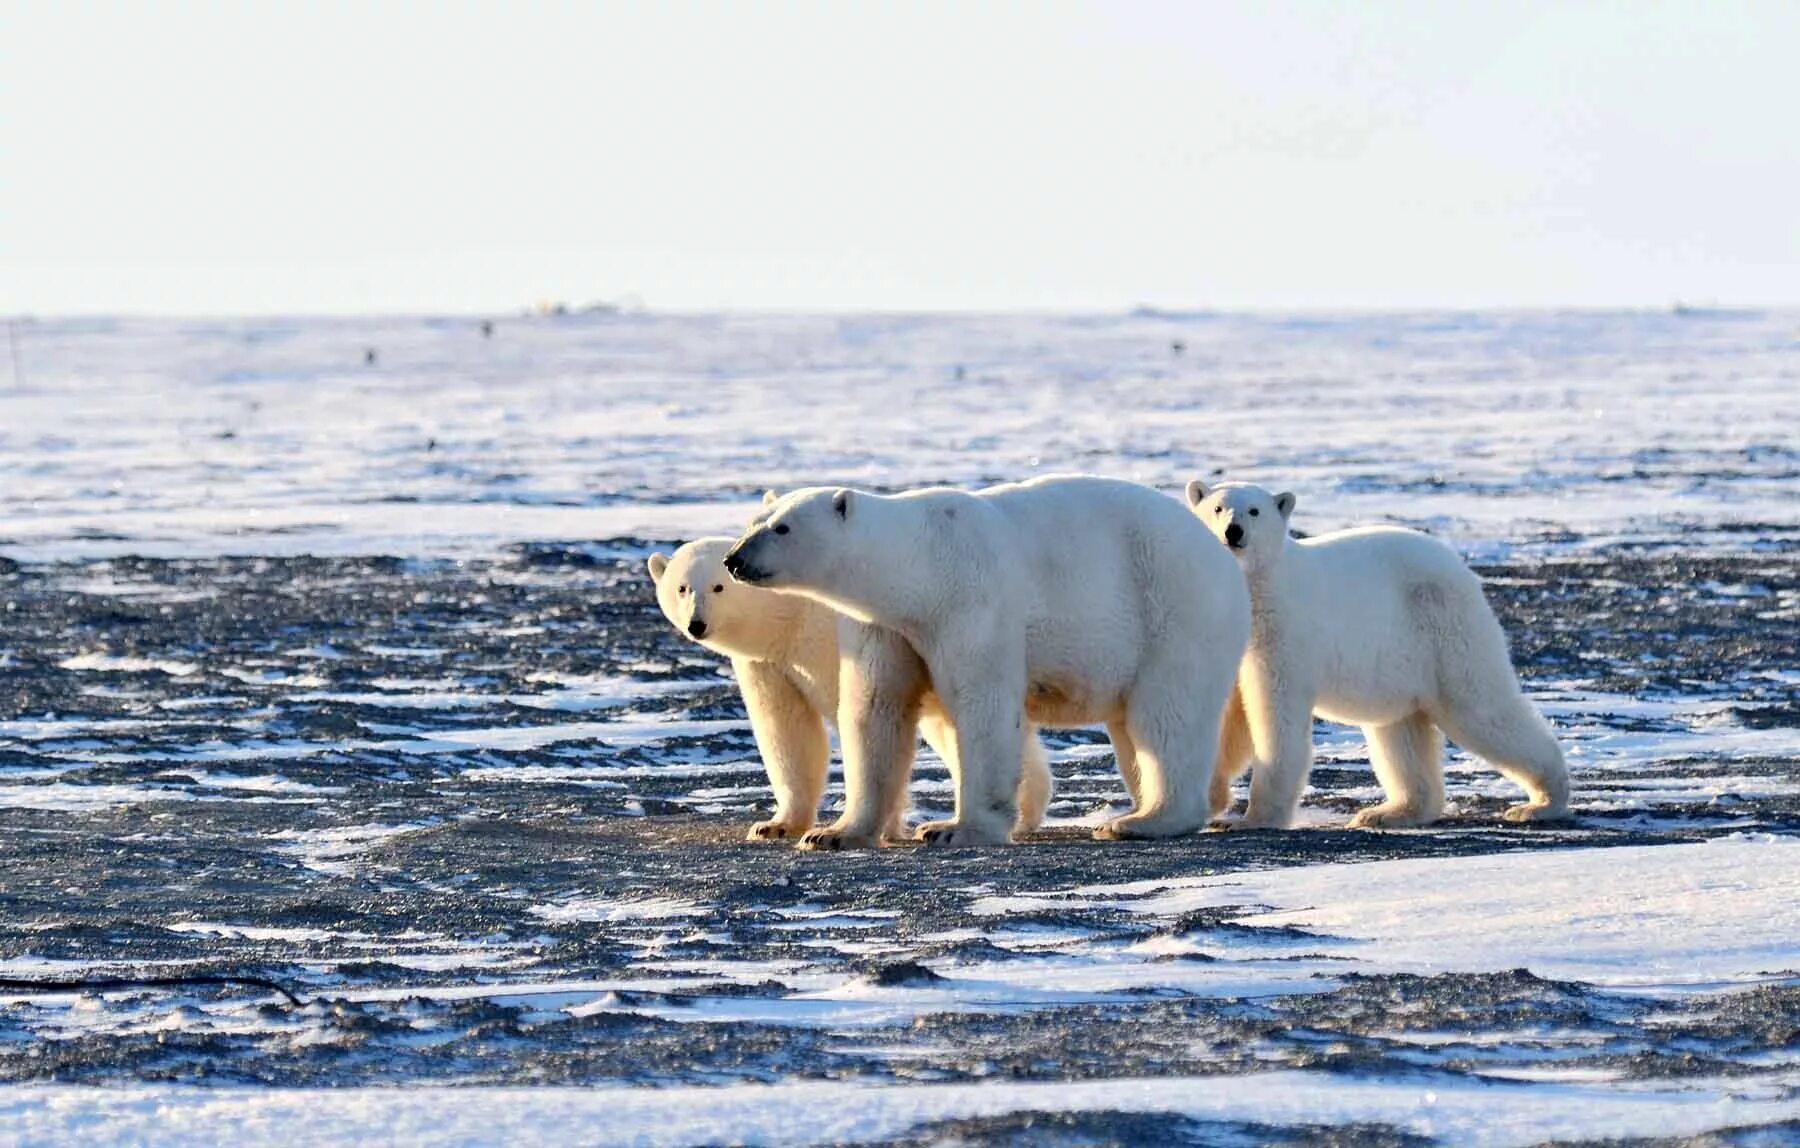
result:
[[[958,768],[956,815],[920,826],[927,846],[1003,846],[1019,819],[1024,635],[994,630],[997,641],[932,651],[931,680],[956,729]]]

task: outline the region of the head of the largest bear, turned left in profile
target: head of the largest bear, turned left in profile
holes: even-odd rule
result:
[[[785,497],[763,495],[763,511],[725,554],[740,583],[770,590],[824,590],[855,552],[857,507],[866,500],[842,488],[814,486]]]

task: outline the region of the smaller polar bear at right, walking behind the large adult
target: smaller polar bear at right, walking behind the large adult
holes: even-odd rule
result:
[[[1253,635],[1228,722],[1213,804],[1247,763],[1246,830],[1292,822],[1312,768],[1312,714],[1363,727],[1386,801],[1352,828],[1424,826],[1444,813],[1444,734],[1530,795],[1508,821],[1568,815],[1570,781],[1550,725],[1519,689],[1481,579],[1418,531],[1363,527],[1289,538],[1294,495],[1188,482],[1188,506],[1249,579]],[[1442,731],[1442,732],[1440,732]],[[1217,812],[1217,810],[1215,810]]]

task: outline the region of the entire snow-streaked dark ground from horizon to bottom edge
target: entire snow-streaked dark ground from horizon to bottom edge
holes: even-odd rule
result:
[[[1800,317],[20,333],[0,975],[311,1004],[0,993],[0,1143],[1800,1137]],[[1031,846],[742,842],[742,707],[643,554],[1057,470],[1449,538],[1579,817],[1456,756],[1444,826],[1348,833],[1321,725],[1307,830],[1100,844],[1066,731]]]

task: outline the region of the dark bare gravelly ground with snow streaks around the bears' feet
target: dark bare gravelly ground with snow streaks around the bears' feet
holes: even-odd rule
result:
[[[988,939],[970,896],[1393,857],[1699,840],[1732,826],[1800,830],[1789,797],[1660,804],[1566,826],[1508,826],[1501,801],[1463,803],[1426,833],[1204,833],[1157,844],[1073,830],[977,853],[896,848],[808,855],[747,844],[767,801],[747,732],[616,749],[599,734],[508,745],[481,731],[632,718],[742,718],[711,655],[661,619],[635,540],[522,547],[493,563],[389,560],[119,560],[0,567],[0,959],[108,972],[257,973],[306,1009],[257,1026],[198,1006],[252,990],[0,999],[0,1080],[347,1085],[1105,1080],[1309,1067],[1359,1078],[1467,1078],[1539,1063],[1624,1078],[1755,1072],[1800,1049],[1800,975],[1703,1004],[1652,1002],[1490,975],[1332,977],[1260,999],[1175,991],[1030,1009],[923,1013],[853,1031],[693,1020],[733,999],[792,1002],[794,972],[927,982],[976,961],[1040,961]],[[625,556],[621,556],[625,554]],[[1793,554],[1622,554],[1490,567],[1490,597],[1526,678],[1633,696],[1723,698],[1742,722],[1800,727]],[[77,669],[104,653],[137,668]],[[162,669],[144,664],[164,662]],[[81,662],[76,662],[81,666]],[[124,664],[121,664],[124,666]],[[187,669],[187,668],[193,669]],[[607,709],[558,707],[554,682],[641,684]],[[479,695],[418,707],[409,695]],[[31,725],[25,725],[31,723]],[[1654,723],[1620,716],[1622,727]],[[466,745],[455,745],[457,734]],[[1057,734],[1058,745],[1094,734]],[[430,745],[427,745],[430,743]],[[1800,734],[1796,734],[1800,743]],[[428,750],[428,752],[421,752]],[[529,772],[540,776],[524,781]],[[688,767],[688,768],[666,768]],[[583,776],[581,770],[596,770]],[[1678,761],[1669,777],[1771,774],[1795,758]],[[284,785],[268,788],[277,777]],[[941,772],[927,779],[941,779]],[[1580,777],[1577,783],[1580,785]],[[1314,804],[1348,815],[1364,763],[1314,774]],[[234,788],[257,786],[265,788]],[[106,786],[119,786],[108,790]],[[286,786],[286,788],[284,788]],[[108,799],[108,792],[126,797]],[[941,799],[941,797],[940,797]],[[1120,799],[1107,758],[1058,779],[1057,813]],[[1577,794],[1577,803],[1580,794]],[[931,806],[931,799],[922,804]],[[1642,812],[1640,812],[1642,813]],[[333,831],[400,828],[320,851]],[[572,898],[691,903],[662,921],[563,919]],[[830,941],[828,916],[878,910]],[[1010,927],[1130,943],[1159,930],[1242,939],[1233,910],[1147,921],[1116,909],[1012,914]],[[239,932],[194,932],[223,923]],[[248,932],[243,932],[248,928]],[[259,934],[257,930],[299,930]],[[1292,939],[1292,937],[1285,937]],[[491,963],[443,961],[450,952]],[[720,988],[679,961],[769,963]],[[1795,966],[1800,966],[1796,946]],[[1784,970],[1769,970],[1780,973]],[[666,977],[572,1017],[542,993],[432,990]],[[785,979],[787,977],[787,979]],[[691,981],[691,984],[684,984]],[[391,990],[391,999],[369,999]],[[146,1018],[158,1018],[148,1024]],[[1435,1033],[1431,1042],[1408,1040]],[[1507,1033],[1503,1042],[1478,1040]],[[1570,1033],[1579,1033],[1577,1044]],[[1444,1036],[1449,1035],[1449,1036]],[[1467,1035],[1467,1040],[1456,1035]],[[909,1054],[929,1047],[931,1054]],[[1789,1126],[1791,1130],[1791,1126]],[[1764,1143],[1782,1128],[1719,1134]],[[1388,1128],[1256,1128],[1141,1114],[1015,1114],[916,1130],[907,1143],[1408,1143]],[[1735,1137],[1735,1139],[1733,1139]]]

